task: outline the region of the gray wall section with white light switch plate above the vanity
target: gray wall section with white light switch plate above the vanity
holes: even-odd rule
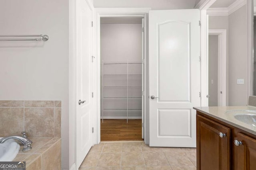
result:
[[[246,5],[228,16],[229,28],[229,105],[247,104],[247,22]],[[244,84],[237,84],[243,78]]]

